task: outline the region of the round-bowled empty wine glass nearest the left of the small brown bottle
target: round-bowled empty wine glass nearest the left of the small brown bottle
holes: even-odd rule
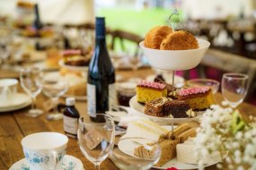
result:
[[[68,82],[65,77],[61,77],[58,74],[52,74],[51,72],[44,73],[42,79],[42,91],[51,98],[53,102],[53,112],[47,116],[49,121],[57,121],[62,119],[62,114],[57,110],[57,100],[60,96],[64,95],[68,89]]]

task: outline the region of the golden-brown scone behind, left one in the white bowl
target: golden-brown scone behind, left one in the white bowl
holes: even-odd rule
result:
[[[168,26],[157,26],[146,33],[144,41],[145,47],[159,49],[164,38],[172,33],[172,28]]]

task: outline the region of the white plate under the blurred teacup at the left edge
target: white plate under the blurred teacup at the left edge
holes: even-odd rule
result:
[[[30,105],[31,98],[28,95],[24,93],[17,93],[15,94],[13,99],[10,100],[10,103],[8,103],[8,105],[0,106],[0,112],[10,112]]]

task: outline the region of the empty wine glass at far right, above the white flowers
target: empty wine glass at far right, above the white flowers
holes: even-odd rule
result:
[[[222,95],[229,106],[235,108],[243,102],[248,91],[248,75],[225,73],[221,81]]]

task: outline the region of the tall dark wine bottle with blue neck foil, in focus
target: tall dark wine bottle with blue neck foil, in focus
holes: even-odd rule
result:
[[[87,77],[88,115],[93,122],[104,122],[106,111],[116,105],[115,69],[105,39],[105,18],[96,17],[95,47]]]

